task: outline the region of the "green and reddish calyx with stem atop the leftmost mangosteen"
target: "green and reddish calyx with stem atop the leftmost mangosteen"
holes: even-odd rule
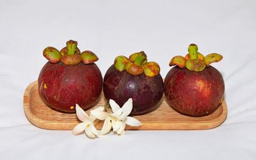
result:
[[[99,60],[99,58],[92,51],[80,52],[77,48],[77,42],[69,40],[67,42],[67,47],[64,47],[59,52],[54,47],[47,47],[43,52],[45,58],[51,61],[51,63],[62,62],[65,65],[76,65],[83,61],[84,64],[93,63]]]

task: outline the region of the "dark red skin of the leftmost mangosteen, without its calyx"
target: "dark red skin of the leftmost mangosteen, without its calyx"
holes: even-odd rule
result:
[[[76,104],[86,109],[99,98],[102,75],[95,63],[65,65],[47,62],[38,77],[38,88],[46,104],[59,111],[74,113]]]

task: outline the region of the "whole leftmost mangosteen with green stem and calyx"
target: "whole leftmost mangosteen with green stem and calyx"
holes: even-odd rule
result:
[[[81,53],[73,40],[60,52],[45,48],[44,56],[49,61],[40,72],[38,88],[45,104],[66,113],[75,113],[76,104],[90,108],[102,90],[102,75],[94,63],[99,58],[92,51]]]

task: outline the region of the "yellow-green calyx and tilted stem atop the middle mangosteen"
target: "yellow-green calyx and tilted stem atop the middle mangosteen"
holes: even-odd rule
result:
[[[125,56],[117,56],[115,58],[115,68],[119,72],[124,70],[134,76],[144,74],[148,77],[155,77],[160,72],[160,67],[156,62],[147,62],[147,55],[145,52],[136,52],[131,54],[129,58]]]

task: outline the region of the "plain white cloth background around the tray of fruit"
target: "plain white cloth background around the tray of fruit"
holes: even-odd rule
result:
[[[0,2],[0,159],[255,159],[256,1]],[[76,40],[102,75],[118,55],[145,51],[170,70],[195,43],[218,52],[227,120],[205,131],[127,131],[90,140],[30,124],[23,94],[47,60],[45,47]]]

